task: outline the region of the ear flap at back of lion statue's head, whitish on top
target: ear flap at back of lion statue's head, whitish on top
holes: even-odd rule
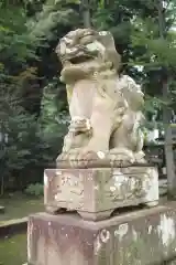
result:
[[[113,63],[113,67],[119,71],[121,56],[116,50],[113,35],[109,31],[99,32],[99,41],[106,47],[107,60]]]

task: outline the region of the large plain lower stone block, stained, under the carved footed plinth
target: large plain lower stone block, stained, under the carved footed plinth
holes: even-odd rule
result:
[[[176,253],[176,203],[91,222],[77,214],[30,216],[31,265],[163,264]]]

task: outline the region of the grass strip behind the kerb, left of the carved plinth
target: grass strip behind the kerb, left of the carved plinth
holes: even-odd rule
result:
[[[0,224],[6,220],[24,218],[44,210],[43,198],[37,199],[21,193],[15,193],[9,198],[0,198],[0,205],[6,208],[4,213],[0,214]]]

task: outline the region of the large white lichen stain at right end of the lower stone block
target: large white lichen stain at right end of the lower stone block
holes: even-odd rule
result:
[[[161,215],[161,223],[157,226],[157,232],[162,237],[163,245],[168,246],[176,236],[174,220],[167,218],[165,214]]]

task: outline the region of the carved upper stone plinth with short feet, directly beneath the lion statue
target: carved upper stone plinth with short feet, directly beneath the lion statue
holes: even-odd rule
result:
[[[156,205],[158,200],[154,167],[46,169],[44,186],[47,212],[76,210],[86,220],[107,219],[118,208]]]

